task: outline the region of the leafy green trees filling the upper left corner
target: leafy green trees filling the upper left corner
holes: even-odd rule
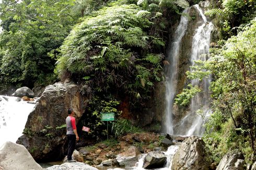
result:
[[[54,57],[74,19],[70,1],[2,1],[0,19],[1,88],[20,84],[32,88],[56,80]],[[51,53],[51,56],[50,56]]]

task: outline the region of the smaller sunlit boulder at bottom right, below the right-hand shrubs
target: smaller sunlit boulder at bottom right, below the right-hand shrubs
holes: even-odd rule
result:
[[[220,160],[216,170],[243,170],[245,167],[245,157],[242,153],[237,151],[232,151],[223,156]]]

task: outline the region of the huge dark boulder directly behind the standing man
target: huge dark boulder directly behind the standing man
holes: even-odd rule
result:
[[[86,101],[76,84],[57,82],[46,87],[29,114],[24,135],[17,143],[24,145],[36,161],[62,159],[67,110],[70,107],[74,109],[78,122],[85,111]]]

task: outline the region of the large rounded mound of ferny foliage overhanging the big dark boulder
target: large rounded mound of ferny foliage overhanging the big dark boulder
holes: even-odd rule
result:
[[[165,42],[147,33],[153,25],[147,11],[121,4],[112,3],[74,27],[61,46],[56,72],[82,83],[84,93],[117,89],[143,101],[161,80],[164,56],[153,52]]]

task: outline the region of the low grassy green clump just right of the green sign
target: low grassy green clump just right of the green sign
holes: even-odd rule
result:
[[[142,129],[132,125],[131,120],[119,118],[112,125],[112,131],[117,138],[126,133],[142,132]]]

